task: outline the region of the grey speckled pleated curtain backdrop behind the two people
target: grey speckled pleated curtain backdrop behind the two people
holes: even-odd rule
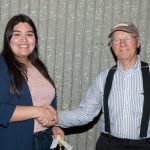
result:
[[[0,0],[0,48],[7,21],[29,15],[39,35],[40,57],[57,86],[58,109],[75,108],[96,75],[115,62],[108,47],[111,27],[132,21],[141,35],[141,58],[150,62],[150,0]],[[94,150],[98,118],[66,130],[73,150]]]

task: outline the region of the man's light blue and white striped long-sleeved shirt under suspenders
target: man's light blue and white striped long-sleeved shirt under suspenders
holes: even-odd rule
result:
[[[80,126],[92,121],[102,108],[106,77],[109,69],[100,73],[88,89],[79,106],[71,111],[59,112],[61,127]],[[124,70],[118,63],[108,99],[111,135],[119,138],[139,139],[143,112],[143,80],[140,59]],[[100,131],[105,132],[104,114],[100,117]],[[150,123],[147,137],[150,137]]]

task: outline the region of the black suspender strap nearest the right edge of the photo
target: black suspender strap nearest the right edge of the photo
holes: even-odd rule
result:
[[[140,137],[146,137],[150,116],[150,73],[148,64],[145,62],[141,62],[141,70],[143,76],[144,104],[143,115],[141,120]]]

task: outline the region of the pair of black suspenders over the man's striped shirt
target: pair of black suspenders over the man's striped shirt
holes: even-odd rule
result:
[[[114,73],[116,72],[117,65],[110,68],[106,83],[104,87],[104,118],[105,118],[105,131],[111,133],[110,131],[110,118],[109,118],[109,110],[108,110],[108,97],[112,86],[112,81],[114,77]],[[141,120],[141,129],[140,129],[140,137],[147,136],[148,122],[150,116],[150,73],[149,66],[147,63],[141,61],[141,71],[143,77],[143,89],[144,89],[144,104],[143,104],[143,115]]]

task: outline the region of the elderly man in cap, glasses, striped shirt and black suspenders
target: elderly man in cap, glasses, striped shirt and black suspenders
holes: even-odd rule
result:
[[[108,37],[117,64],[97,76],[76,109],[59,113],[59,125],[86,124],[102,110],[96,150],[150,150],[150,73],[138,56],[138,29],[120,23]]]

